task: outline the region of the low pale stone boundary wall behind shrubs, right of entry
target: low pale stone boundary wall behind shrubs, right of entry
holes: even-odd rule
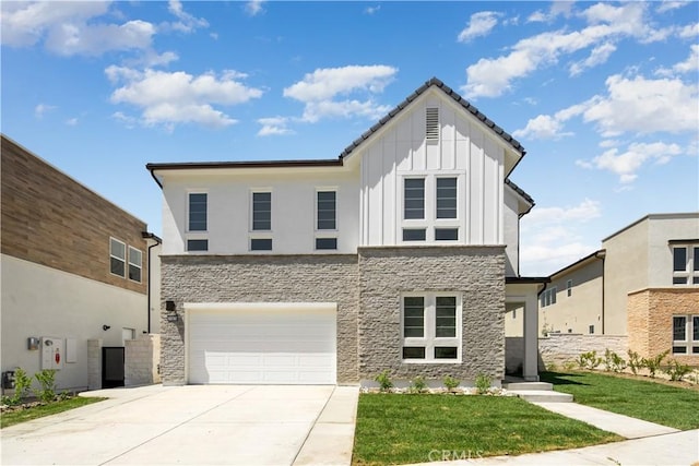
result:
[[[574,361],[582,353],[597,351],[597,356],[604,357],[604,351],[611,349],[627,359],[628,337],[626,335],[580,335],[556,334],[538,338],[540,370],[552,363],[560,367],[566,362]]]

